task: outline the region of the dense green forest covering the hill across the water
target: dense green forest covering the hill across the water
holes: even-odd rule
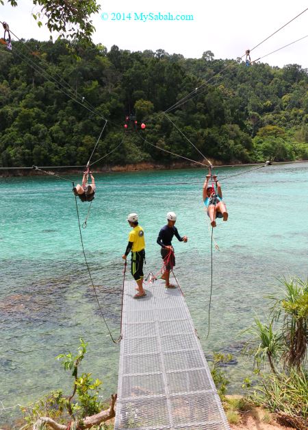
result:
[[[205,156],[222,163],[308,159],[308,72],[298,64],[246,67],[216,60],[211,51],[186,59],[163,50],[74,48],[77,56],[66,40],[14,42],[12,52],[0,47],[2,167],[84,165],[103,128],[101,117],[109,121],[93,160],[126,136],[97,166],[177,160],[142,137],[202,160],[162,113],[189,93],[168,115]],[[127,115],[136,115],[137,130],[129,123],[125,132]]]

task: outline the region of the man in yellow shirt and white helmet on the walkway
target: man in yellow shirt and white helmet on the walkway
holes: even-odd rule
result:
[[[131,252],[131,274],[136,280],[138,287],[136,290],[138,293],[133,298],[142,298],[146,296],[146,292],[143,289],[143,262],[145,257],[145,242],[144,242],[144,231],[138,224],[138,215],[136,213],[130,213],[127,217],[129,225],[133,228],[129,232],[129,243],[127,245],[125,254],[123,254],[123,260],[127,259],[127,255]]]

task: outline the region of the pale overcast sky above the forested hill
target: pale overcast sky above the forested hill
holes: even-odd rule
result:
[[[18,7],[0,5],[0,21],[8,22],[19,38],[49,39],[46,27],[38,28],[31,12],[38,12],[31,0],[18,0]],[[113,0],[100,1],[101,11],[92,16],[94,43],[110,49],[144,51],[164,49],[185,58],[201,58],[212,51],[215,58],[238,58],[261,40],[308,8],[308,0]],[[191,15],[183,21],[140,20],[140,14]],[[129,14],[131,19],[129,19]],[[102,18],[103,15],[103,18]],[[149,15],[151,16],[151,15]],[[123,20],[123,17],[125,18]],[[308,10],[251,52],[251,60],[264,56],[308,34]],[[282,49],[264,62],[272,66],[300,64],[308,68],[308,37]]]

